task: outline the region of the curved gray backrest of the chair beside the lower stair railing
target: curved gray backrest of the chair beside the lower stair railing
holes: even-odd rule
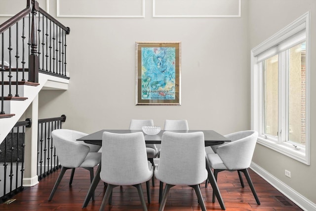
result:
[[[60,165],[63,167],[79,167],[90,151],[89,146],[78,143],[76,136],[73,133],[69,133],[68,130],[53,130],[51,136]]]

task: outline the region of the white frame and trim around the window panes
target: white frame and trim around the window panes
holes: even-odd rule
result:
[[[290,25],[259,44],[251,50],[251,128],[259,133],[258,143],[269,147],[279,153],[298,160],[304,164],[310,165],[310,13],[307,12]],[[262,61],[271,56],[278,54],[279,67],[287,66],[286,49],[289,49],[296,44],[306,41],[306,142],[305,146],[292,144],[292,142],[284,141],[285,133],[278,134],[277,138],[264,135],[264,116],[263,116],[263,68]],[[286,75],[279,71],[278,77],[281,78],[281,83],[286,83]],[[279,79],[280,81],[280,79]],[[288,93],[280,85],[279,93],[282,96],[288,96]],[[287,109],[285,107],[285,99],[279,94],[279,111]],[[288,97],[286,97],[288,98]],[[285,131],[284,122],[287,121],[286,112],[278,115],[279,131]]]

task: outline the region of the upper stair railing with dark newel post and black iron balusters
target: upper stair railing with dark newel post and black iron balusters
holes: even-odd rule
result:
[[[5,113],[4,101],[25,100],[19,96],[18,85],[37,85],[39,72],[69,79],[69,33],[70,28],[40,8],[36,0],[27,0],[25,9],[0,25],[0,118],[12,116]]]

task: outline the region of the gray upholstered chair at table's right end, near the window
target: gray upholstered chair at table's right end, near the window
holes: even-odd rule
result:
[[[225,137],[230,139],[232,142],[219,145],[213,149],[215,153],[208,153],[206,155],[209,167],[214,171],[215,179],[217,180],[217,175],[219,172],[225,170],[237,171],[241,186],[244,187],[244,183],[240,174],[242,172],[246,177],[257,204],[260,205],[259,198],[248,173],[248,168],[250,167],[258,138],[258,132],[251,130],[239,131],[226,135]],[[215,202],[214,192],[212,201],[213,203]]]

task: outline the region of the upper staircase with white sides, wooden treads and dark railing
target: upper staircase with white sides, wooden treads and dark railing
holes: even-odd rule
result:
[[[36,0],[0,25],[0,143],[41,89],[68,89],[69,33]]]

